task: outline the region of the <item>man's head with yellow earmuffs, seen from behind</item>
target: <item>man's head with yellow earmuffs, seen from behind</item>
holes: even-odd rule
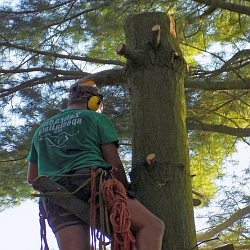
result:
[[[87,108],[96,111],[102,102],[102,95],[93,85],[74,83],[69,89],[69,103],[87,105]]]

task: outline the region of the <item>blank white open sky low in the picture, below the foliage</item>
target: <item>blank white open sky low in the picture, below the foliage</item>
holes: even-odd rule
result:
[[[239,172],[250,166],[250,147],[241,145],[234,159],[239,160],[237,167],[230,167],[229,172]],[[197,210],[200,212],[200,210]],[[204,227],[201,221],[197,229]],[[24,202],[18,207],[0,213],[1,250],[40,250],[40,225],[37,198]],[[47,239],[50,250],[59,250],[51,229],[47,225]]]

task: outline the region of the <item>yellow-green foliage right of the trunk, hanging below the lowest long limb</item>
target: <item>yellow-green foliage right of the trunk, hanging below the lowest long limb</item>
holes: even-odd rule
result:
[[[202,206],[208,205],[217,190],[215,181],[225,173],[222,166],[226,157],[235,152],[235,139],[216,133],[192,132],[189,134],[193,189],[202,194]]]

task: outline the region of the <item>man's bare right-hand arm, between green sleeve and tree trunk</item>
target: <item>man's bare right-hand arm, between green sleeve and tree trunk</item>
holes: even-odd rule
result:
[[[114,177],[117,178],[117,180],[119,180],[125,188],[127,188],[128,180],[116,145],[113,142],[106,143],[101,146],[101,149],[104,156],[104,160],[114,167]]]

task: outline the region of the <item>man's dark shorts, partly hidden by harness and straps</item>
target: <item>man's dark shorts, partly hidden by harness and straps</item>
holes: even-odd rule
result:
[[[72,177],[62,177],[57,181],[57,183],[66,187],[69,190],[69,192],[74,192],[79,186],[81,186],[87,179],[90,178],[90,176],[77,175],[79,173],[84,173],[84,174],[90,173],[90,168],[80,170],[77,172],[69,172],[67,174],[72,174],[73,175]],[[98,190],[98,186],[99,186],[99,179],[96,178],[96,190]],[[80,199],[88,202],[91,196],[90,184],[79,190],[77,193],[75,193],[75,195]],[[71,214],[61,206],[53,203],[49,199],[43,201],[41,200],[39,202],[39,208],[40,208],[40,213],[42,212],[45,213],[48,224],[54,233],[68,226],[85,224],[81,219]],[[43,209],[44,211],[42,211]]]

